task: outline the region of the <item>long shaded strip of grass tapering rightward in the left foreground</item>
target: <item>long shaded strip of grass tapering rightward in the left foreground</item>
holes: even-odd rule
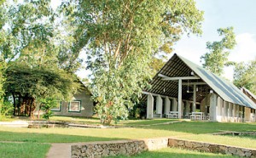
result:
[[[103,133],[102,133],[103,134]],[[30,143],[76,143],[120,140],[125,138],[101,138],[55,133],[13,133],[0,132],[0,141],[30,142]]]

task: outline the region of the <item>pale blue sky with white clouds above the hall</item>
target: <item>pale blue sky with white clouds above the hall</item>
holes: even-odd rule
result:
[[[237,44],[230,51],[230,61],[247,62],[256,58],[256,0],[195,0],[195,2],[197,8],[204,11],[203,34],[200,37],[184,35],[174,45],[174,53],[201,65],[200,57],[207,53],[206,43],[221,39],[217,29],[233,26]],[[81,54],[80,57],[84,55]],[[83,78],[88,73],[89,71],[82,69],[77,74]],[[224,69],[224,77],[232,81],[232,67]]]

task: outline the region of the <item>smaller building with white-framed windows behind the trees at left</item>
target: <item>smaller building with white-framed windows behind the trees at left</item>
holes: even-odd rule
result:
[[[61,101],[58,107],[51,109],[56,116],[85,116],[93,115],[93,101],[87,87],[82,86],[78,93],[73,95],[70,101]]]

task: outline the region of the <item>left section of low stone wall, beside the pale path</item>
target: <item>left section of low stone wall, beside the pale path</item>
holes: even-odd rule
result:
[[[71,146],[73,158],[136,155],[145,150],[148,150],[148,148],[143,140],[108,141]]]

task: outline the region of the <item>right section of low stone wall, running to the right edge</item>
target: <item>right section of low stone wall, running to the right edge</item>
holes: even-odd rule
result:
[[[238,155],[241,157],[256,157],[256,150],[253,149],[239,148],[222,144],[209,144],[175,138],[169,138],[168,146],[188,150],[221,153],[226,155]]]

